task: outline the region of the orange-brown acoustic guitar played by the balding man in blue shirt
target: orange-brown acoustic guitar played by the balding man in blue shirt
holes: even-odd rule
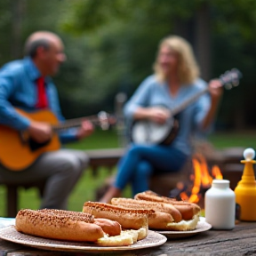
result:
[[[98,116],[85,116],[60,123],[50,110],[38,110],[31,113],[16,110],[30,120],[51,124],[52,138],[44,143],[37,143],[29,137],[28,132],[19,132],[0,124],[0,163],[11,171],[21,171],[33,164],[44,152],[60,149],[59,133],[71,127],[79,127],[84,119],[90,120],[92,124],[100,125],[103,130],[107,130],[109,124],[115,122],[114,117],[109,117],[104,111],[101,111]]]

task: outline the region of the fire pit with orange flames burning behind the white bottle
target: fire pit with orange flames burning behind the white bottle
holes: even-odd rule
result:
[[[225,148],[207,155],[202,152],[205,150],[197,150],[181,172],[153,177],[150,189],[162,196],[195,202],[203,208],[204,193],[211,187],[212,179],[229,180],[234,190],[244,170],[244,164],[240,163],[244,148]]]

